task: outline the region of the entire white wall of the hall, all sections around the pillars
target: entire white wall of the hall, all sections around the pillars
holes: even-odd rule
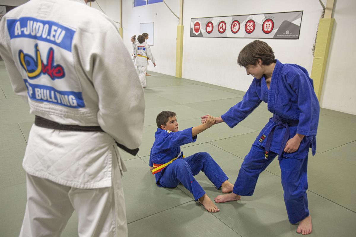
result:
[[[119,0],[97,0],[105,13],[120,20]],[[179,1],[165,0],[179,15]],[[324,5],[326,0],[322,0]],[[26,0],[1,0],[3,5],[18,6]],[[131,52],[130,37],[140,31],[140,23],[154,22],[154,45],[151,47],[157,67],[150,63],[148,70],[175,75],[176,37],[178,19],[163,2],[133,7],[132,0],[122,0],[122,27],[124,42]],[[336,111],[356,114],[356,72],[354,44],[356,32],[355,0],[335,0],[335,23],[331,38],[329,60],[326,65],[320,105]],[[89,5],[89,4],[88,4]],[[99,9],[96,2],[92,6]],[[214,85],[246,91],[251,83],[245,69],[237,65],[240,50],[253,39],[190,37],[190,18],[261,14],[303,10],[300,37],[297,40],[263,39],[271,45],[276,58],[282,63],[296,63],[312,69],[311,48],[322,8],[318,0],[185,0],[183,7],[183,77]],[[119,26],[119,24],[117,24]]]

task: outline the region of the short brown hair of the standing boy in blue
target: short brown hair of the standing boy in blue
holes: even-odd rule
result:
[[[263,65],[276,63],[272,48],[266,42],[255,40],[241,50],[237,63],[245,67],[248,64],[255,65],[258,59],[262,60]]]

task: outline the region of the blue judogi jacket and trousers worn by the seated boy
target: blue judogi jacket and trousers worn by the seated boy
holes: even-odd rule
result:
[[[194,200],[198,200],[205,194],[203,188],[194,179],[194,176],[200,171],[203,171],[218,189],[228,179],[209,153],[199,152],[192,156],[181,158],[183,154],[180,152],[180,146],[196,140],[197,136],[192,136],[192,128],[177,132],[157,128],[155,142],[153,142],[151,148],[149,165],[152,167],[153,164],[164,164],[178,157],[177,160],[155,173],[158,187],[174,188],[179,183],[182,183],[193,194]]]

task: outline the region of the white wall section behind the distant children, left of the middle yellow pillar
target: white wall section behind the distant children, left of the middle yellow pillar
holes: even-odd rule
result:
[[[179,16],[179,0],[165,0],[172,11]],[[188,2],[188,1],[185,1]],[[122,1],[122,28],[124,42],[132,51],[130,38],[140,33],[140,23],[154,23],[154,43],[151,46],[156,58],[156,67],[151,61],[148,70],[176,75],[176,40],[179,20],[163,2],[132,7],[132,0]],[[184,47],[184,46],[183,46]]]

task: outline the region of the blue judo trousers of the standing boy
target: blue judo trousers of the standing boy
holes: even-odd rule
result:
[[[269,152],[268,159],[265,159],[265,148],[253,144],[244,162],[242,162],[232,192],[241,196],[251,196],[255,190],[258,176],[277,155],[275,152]],[[306,193],[308,189],[307,164],[308,155],[304,159],[285,156],[279,158],[284,203],[290,223],[297,223],[309,216]]]

